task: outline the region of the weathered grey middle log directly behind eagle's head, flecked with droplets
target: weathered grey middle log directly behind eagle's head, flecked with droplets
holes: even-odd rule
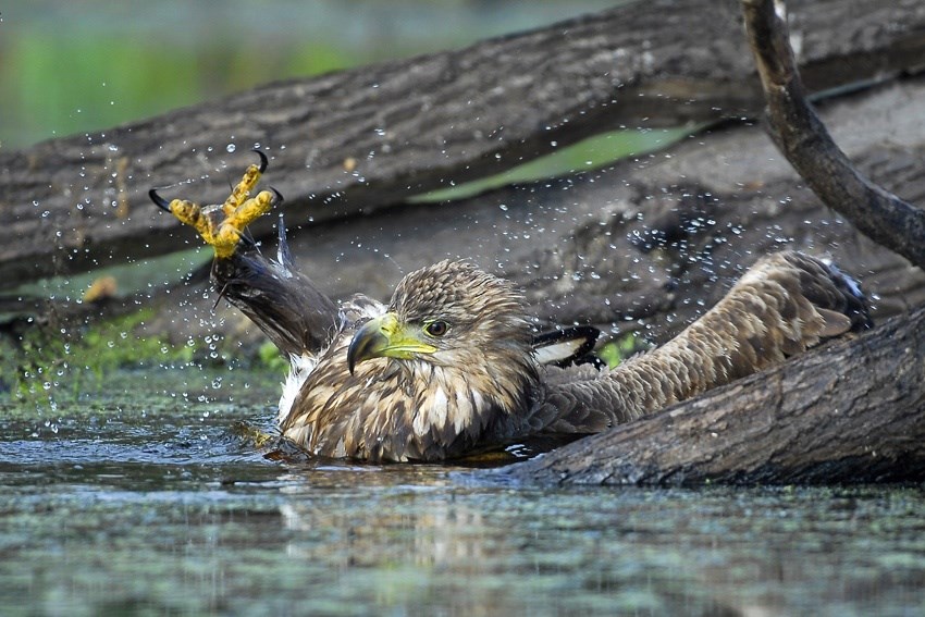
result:
[[[923,99],[925,81],[909,79],[822,110],[859,169],[913,202],[925,202]],[[189,231],[185,239],[199,243]],[[349,224],[296,227],[289,240],[299,267],[333,297],[385,299],[403,273],[465,257],[520,284],[543,320],[642,331],[654,342],[782,247],[830,257],[859,277],[876,297],[878,321],[925,304],[925,274],[821,203],[760,126],[727,126],[606,170],[494,190],[448,212],[406,205]],[[242,340],[236,311],[220,307],[203,330],[198,317],[213,300],[201,285],[187,293],[169,298],[169,332]]]

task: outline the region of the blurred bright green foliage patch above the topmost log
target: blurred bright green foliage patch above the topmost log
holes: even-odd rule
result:
[[[7,127],[10,133],[3,146],[104,129],[250,88],[267,81],[267,66],[273,69],[272,77],[282,78],[356,62],[328,46],[267,50],[258,41],[229,40],[194,54],[183,46],[163,46],[156,40],[59,35],[37,32],[8,44],[8,57],[16,58],[22,70],[0,73],[0,81],[7,84],[0,101],[23,122]]]

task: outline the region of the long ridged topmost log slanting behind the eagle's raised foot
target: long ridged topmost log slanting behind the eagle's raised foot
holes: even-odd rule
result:
[[[793,4],[815,91],[921,63],[917,1]],[[641,2],[460,51],[272,84],[0,153],[0,288],[175,250],[163,233],[175,222],[157,217],[145,192],[196,178],[199,196],[221,199],[240,166],[227,146],[267,149],[291,220],[321,221],[494,174],[616,126],[760,107],[732,0]]]

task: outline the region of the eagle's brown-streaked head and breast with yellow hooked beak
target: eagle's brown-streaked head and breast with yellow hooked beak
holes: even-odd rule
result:
[[[434,460],[503,443],[538,380],[513,284],[461,261],[405,276],[382,314],[346,329],[301,386],[284,434],[309,452]]]

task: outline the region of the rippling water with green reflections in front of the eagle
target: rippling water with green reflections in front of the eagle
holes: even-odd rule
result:
[[[273,462],[233,424],[271,421],[275,386],[209,383],[121,375],[53,417],[0,403],[0,614],[925,607],[921,488],[559,490]]]

